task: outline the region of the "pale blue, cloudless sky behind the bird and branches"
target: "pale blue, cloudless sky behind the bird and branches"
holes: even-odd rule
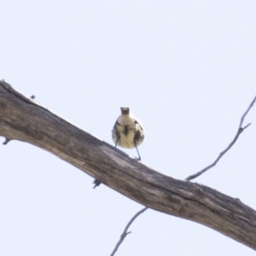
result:
[[[256,95],[255,1],[0,0],[0,77],[113,144],[119,107],[142,120],[142,161],[184,179],[212,163]],[[256,106],[195,179],[255,208]],[[0,137],[1,143],[4,141]],[[137,155],[136,150],[125,150]],[[27,143],[0,145],[0,255],[110,255],[142,205]],[[116,256],[241,256],[201,224],[148,210]]]

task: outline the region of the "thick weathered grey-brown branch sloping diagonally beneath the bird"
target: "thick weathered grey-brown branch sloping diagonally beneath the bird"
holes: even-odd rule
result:
[[[0,136],[31,143],[159,212],[204,224],[256,249],[256,212],[198,183],[156,172],[0,80]]]

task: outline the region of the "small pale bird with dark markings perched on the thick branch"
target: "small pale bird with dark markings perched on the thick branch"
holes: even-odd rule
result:
[[[113,125],[112,139],[115,147],[136,148],[143,143],[145,133],[140,121],[130,113],[130,108],[122,107],[121,115]],[[138,160],[141,156],[137,150]]]

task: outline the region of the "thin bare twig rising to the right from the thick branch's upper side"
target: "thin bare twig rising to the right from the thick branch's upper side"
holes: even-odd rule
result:
[[[206,168],[202,169],[200,172],[197,172],[193,175],[190,175],[189,177],[186,178],[186,180],[191,180],[195,177],[199,177],[202,173],[207,172],[209,169],[211,169],[213,166],[216,166],[216,164],[218,163],[218,160],[220,160],[224,154],[226,154],[230,148],[236,143],[236,140],[238,139],[238,137],[240,136],[241,132],[244,131],[245,129],[247,129],[247,127],[251,124],[247,124],[244,127],[241,127],[241,125],[243,124],[243,121],[247,115],[247,113],[250,111],[251,108],[253,108],[253,104],[256,102],[256,96],[253,98],[253,102],[251,102],[251,104],[249,105],[249,107],[247,108],[247,111],[241,116],[241,120],[240,120],[240,124],[238,127],[238,131],[236,132],[236,136],[234,137],[233,141],[230,143],[230,145],[228,146],[228,148],[225,148],[224,151],[222,151],[219,155],[218,158],[212,163],[212,165],[207,166]]]

